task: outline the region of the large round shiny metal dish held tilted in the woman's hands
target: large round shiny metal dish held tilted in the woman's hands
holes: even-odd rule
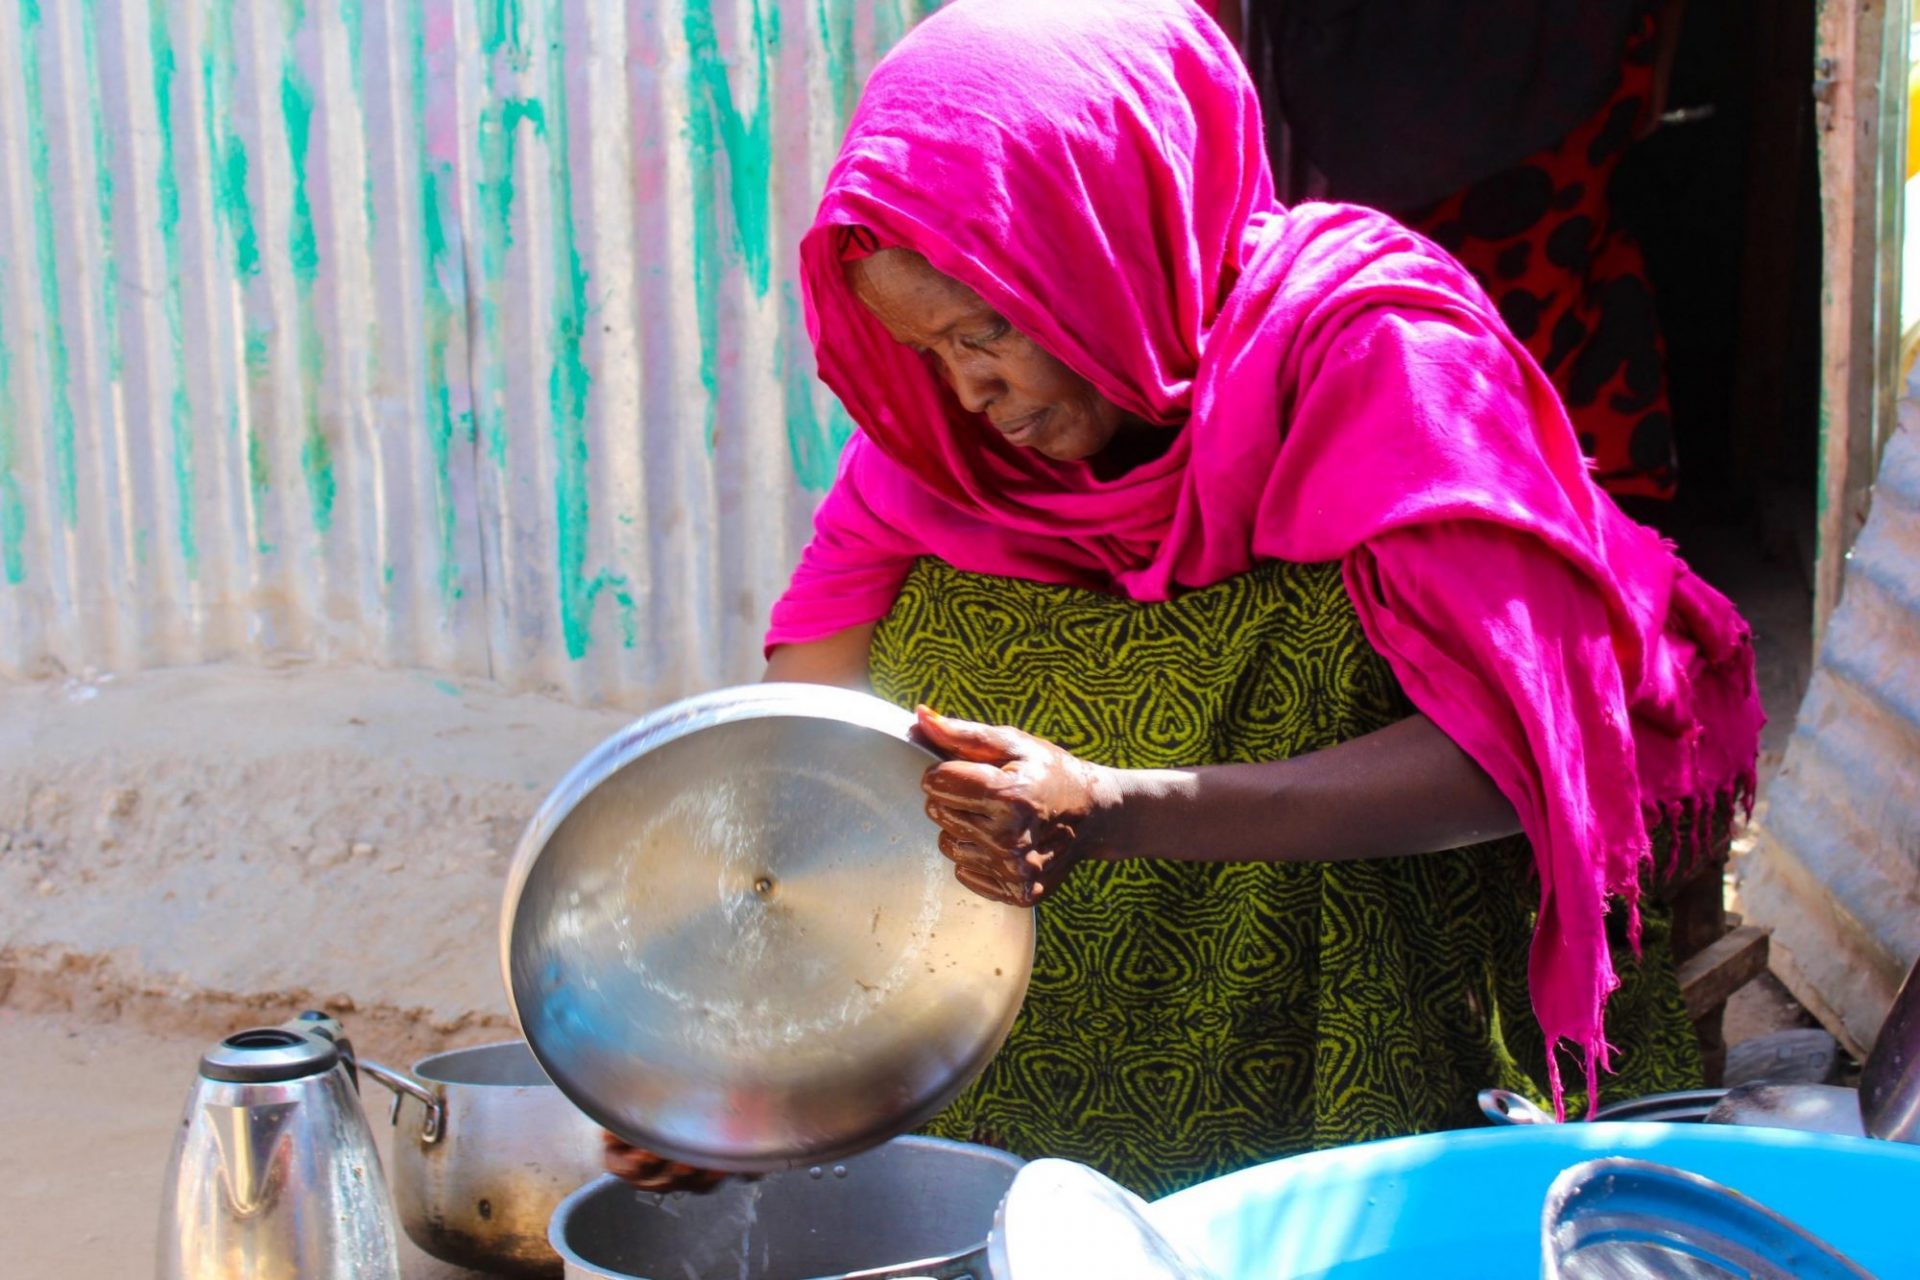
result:
[[[1033,913],[954,881],[912,716],[751,685],[614,735],[515,854],[501,963],[574,1105],[705,1169],[872,1148],[1000,1048]]]

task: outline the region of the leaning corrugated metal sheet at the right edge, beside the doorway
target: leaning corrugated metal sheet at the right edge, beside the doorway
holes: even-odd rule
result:
[[[1874,482],[1839,608],[1741,860],[1774,967],[1855,1052],[1920,958],[1920,401]]]

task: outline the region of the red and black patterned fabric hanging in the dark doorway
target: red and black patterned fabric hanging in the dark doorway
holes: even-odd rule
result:
[[[1613,98],[1559,146],[1402,221],[1478,276],[1559,388],[1599,484],[1672,497],[1667,349],[1640,246],[1607,198],[1647,109],[1653,46],[1647,19]]]

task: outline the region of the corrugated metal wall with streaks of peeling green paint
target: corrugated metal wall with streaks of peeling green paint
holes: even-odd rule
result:
[[[0,674],[751,677],[793,249],[937,0],[0,0]]]

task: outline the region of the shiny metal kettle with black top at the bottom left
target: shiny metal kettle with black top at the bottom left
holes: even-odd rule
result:
[[[159,1280],[399,1280],[399,1230],[323,1013],[227,1036],[200,1059],[159,1215]]]

